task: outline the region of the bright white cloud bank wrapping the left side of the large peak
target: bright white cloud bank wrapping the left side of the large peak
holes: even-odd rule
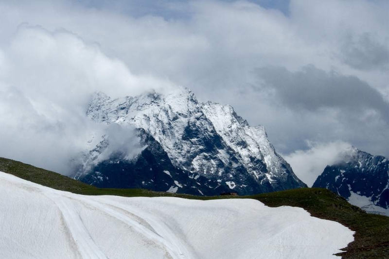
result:
[[[124,96],[174,87],[165,79],[132,74],[98,45],[65,30],[21,25],[0,58],[0,66],[7,65],[0,79],[0,156],[59,173],[72,173],[70,161],[90,148],[93,133],[109,135],[113,130],[85,115],[94,91]],[[112,146],[119,150],[126,145],[122,151],[128,156],[140,151],[133,130],[111,135]]]

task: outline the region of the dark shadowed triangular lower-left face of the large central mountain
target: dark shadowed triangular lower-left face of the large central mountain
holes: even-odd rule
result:
[[[215,180],[183,172],[173,166],[161,145],[144,129],[138,131],[138,136],[145,148],[136,158],[128,160],[118,152],[96,163],[79,179],[100,188],[142,188],[193,195],[214,195],[215,191],[230,190]],[[109,143],[103,141],[102,144],[107,146]],[[100,148],[104,150],[105,147]]]

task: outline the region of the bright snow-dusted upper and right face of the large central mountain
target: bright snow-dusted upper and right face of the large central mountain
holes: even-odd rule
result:
[[[229,105],[200,104],[186,88],[115,100],[97,93],[87,115],[100,123],[144,129],[182,173],[212,181],[199,187],[202,192],[219,194],[228,187],[253,194],[306,186],[275,152],[263,126],[250,127]]]

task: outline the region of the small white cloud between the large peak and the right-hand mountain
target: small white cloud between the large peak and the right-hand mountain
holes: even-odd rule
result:
[[[345,150],[352,145],[343,141],[330,143],[307,142],[308,150],[297,150],[284,159],[291,165],[293,172],[309,187],[313,185],[318,176],[323,173],[327,165],[339,162]]]

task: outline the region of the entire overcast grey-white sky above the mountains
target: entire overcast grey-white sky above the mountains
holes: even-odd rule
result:
[[[93,91],[185,86],[264,125],[308,185],[350,145],[388,157],[388,10],[387,0],[2,0],[0,156],[66,171],[56,158],[96,127],[84,118]]]

